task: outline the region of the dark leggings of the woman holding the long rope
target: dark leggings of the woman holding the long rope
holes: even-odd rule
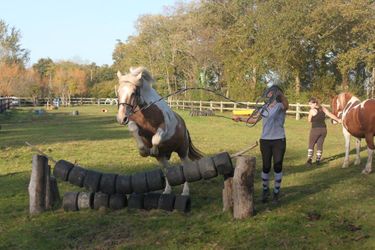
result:
[[[263,172],[268,174],[271,170],[280,173],[283,169],[283,160],[286,149],[286,139],[264,140],[260,139],[260,152],[262,153]]]

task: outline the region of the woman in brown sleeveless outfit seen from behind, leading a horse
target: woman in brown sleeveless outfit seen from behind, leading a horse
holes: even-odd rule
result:
[[[311,97],[309,100],[309,116],[308,121],[311,122],[311,130],[309,136],[309,148],[307,150],[307,162],[306,166],[312,166],[312,157],[314,155],[314,146],[316,145],[316,164],[319,165],[323,154],[323,143],[327,136],[327,126],[325,118],[329,118],[341,123],[341,120],[334,114],[329,112],[325,107],[319,104],[319,101],[315,97]]]

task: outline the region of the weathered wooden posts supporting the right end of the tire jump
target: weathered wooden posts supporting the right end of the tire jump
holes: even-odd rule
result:
[[[224,177],[223,211],[230,211],[235,219],[244,219],[254,215],[254,175],[255,157],[242,154],[255,145],[231,155],[236,158],[233,176]]]

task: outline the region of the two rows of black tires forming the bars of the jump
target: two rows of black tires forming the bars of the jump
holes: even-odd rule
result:
[[[208,180],[218,174],[233,176],[233,165],[227,152],[213,157],[205,157],[183,166],[167,169],[166,178],[171,186],[201,179]],[[65,160],[56,163],[53,174],[60,180],[72,185],[85,187],[89,192],[68,192],[64,195],[63,207],[67,211],[85,208],[99,209],[106,207],[121,209],[162,209],[189,212],[189,196],[160,194],[153,191],[165,188],[164,174],[160,169],[132,175],[100,173],[76,166]],[[129,195],[127,198],[126,195]]]

